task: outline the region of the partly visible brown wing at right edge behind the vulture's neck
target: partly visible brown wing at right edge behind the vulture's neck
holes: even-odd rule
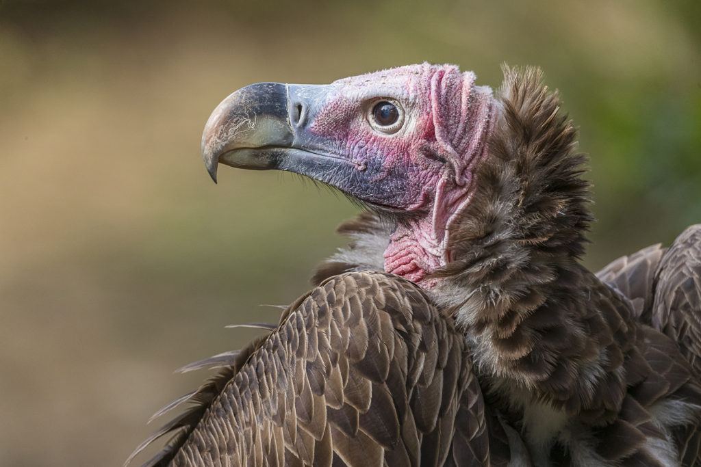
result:
[[[602,281],[618,289],[636,304],[641,323],[653,326],[671,337],[665,342],[651,339],[646,360],[665,368],[658,384],[641,384],[632,393],[641,402],[651,403],[661,393],[676,391],[680,397],[688,389],[680,384],[685,379],[683,365],[669,365],[669,356],[681,354],[690,363],[696,381],[701,377],[701,225],[687,228],[669,247],[648,246],[630,256],[614,260],[597,273]],[[648,332],[648,339],[655,337]],[[665,348],[668,346],[673,346]],[[679,386],[677,388],[676,386]],[[693,400],[697,395],[686,396]],[[679,456],[684,466],[701,461],[701,430],[697,424],[674,428]]]

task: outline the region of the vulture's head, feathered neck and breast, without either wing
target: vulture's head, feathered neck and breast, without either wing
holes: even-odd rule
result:
[[[247,86],[212,113],[202,151],[213,179],[219,163],[285,170],[365,204],[374,214],[342,226],[354,242],[317,278],[381,269],[428,291],[538,465],[669,465],[701,389],[674,342],[578,263],[589,183],[559,109],[537,69],[505,68],[492,92],[453,65],[410,65]],[[657,417],[658,403],[689,418]]]

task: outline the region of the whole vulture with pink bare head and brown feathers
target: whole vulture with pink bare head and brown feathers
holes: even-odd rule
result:
[[[205,125],[219,163],[364,205],[315,288],[241,351],[147,465],[693,466],[701,226],[595,274],[585,155],[540,70],[453,65],[258,83]]]

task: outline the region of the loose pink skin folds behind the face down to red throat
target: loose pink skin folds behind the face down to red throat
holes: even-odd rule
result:
[[[451,228],[470,202],[477,164],[486,158],[487,141],[498,117],[498,104],[491,90],[474,85],[474,74],[463,74],[456,85],[455,74],[435,74],[432,78],[432,114],[435,152],[442,154],[452,170],[442,172],[428,214],[418,220],[400,223],[390,235],[385,253],[386,272],[400,275],[425,289],[439,279],[426,275],[446,265]],[[456,99],[457,95],[461,98]]]

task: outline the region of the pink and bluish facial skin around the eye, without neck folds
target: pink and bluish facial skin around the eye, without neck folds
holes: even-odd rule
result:
[[[412,211],[433,199],[447,169],[436,154],[430,94],[431,67],[403,67],[336,81],[325,104],[308,116],[308,151],[346,160],[325,183],[360,200]],[[372,125],[372,111],[388,101],[403,113],[392,133]]]

